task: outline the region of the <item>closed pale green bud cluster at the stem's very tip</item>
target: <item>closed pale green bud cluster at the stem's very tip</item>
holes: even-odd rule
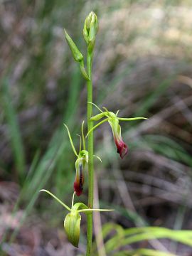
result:
[[[85,18],[84,28],[83,28],[83,36],[88,45],[94,46],[95,44],[95,36],[98,31],[98,19],[96,14],[91,11],[90,14]]]

